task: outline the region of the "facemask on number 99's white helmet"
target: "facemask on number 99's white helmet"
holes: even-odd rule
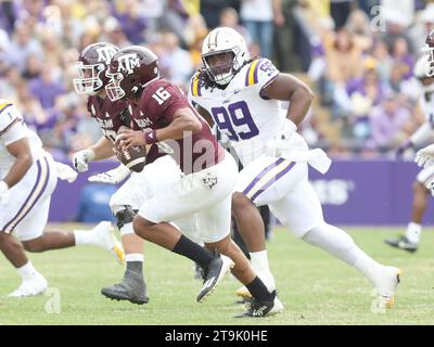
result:
[[[239,63],[238,47],[230,50],[209,52],[202,55],[203,64],[209,79],[218,85],[229,83],[242,67]]]

